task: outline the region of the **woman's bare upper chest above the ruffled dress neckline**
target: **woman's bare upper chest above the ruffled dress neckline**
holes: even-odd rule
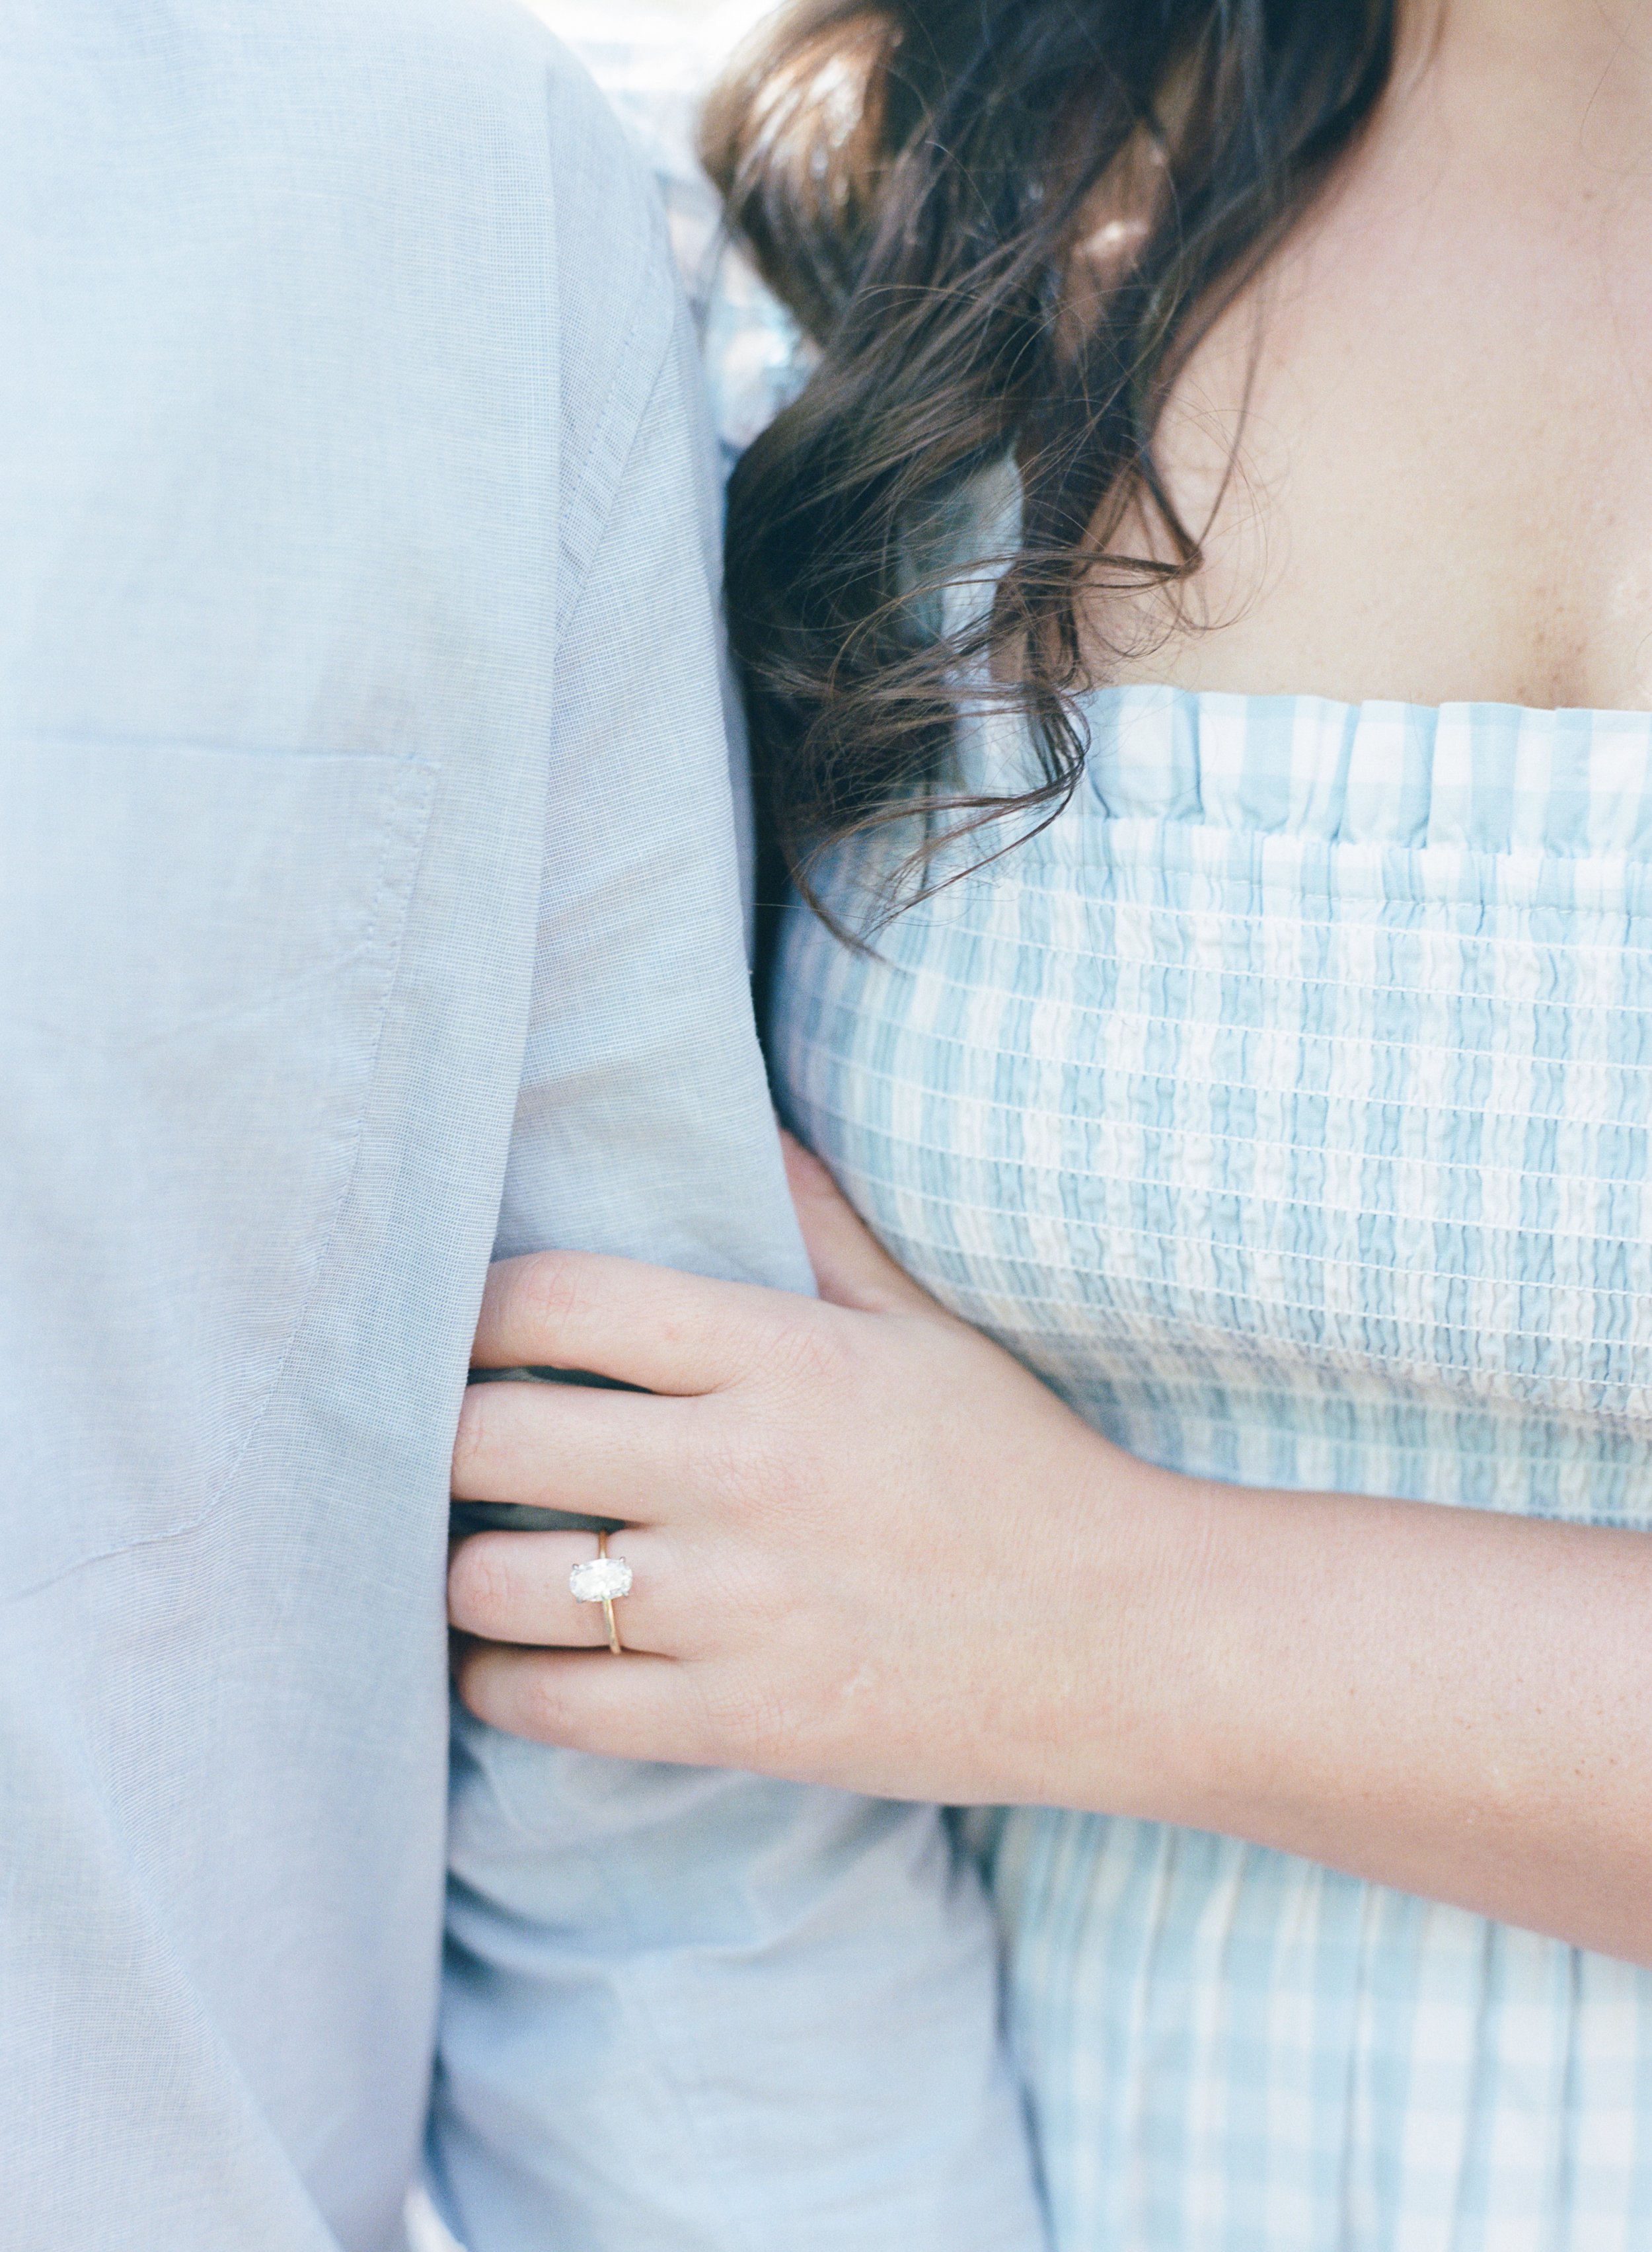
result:
[[[1413,25],[1366,142],[1161,426],[1195,531],[1242,432],[1191,590],[1215,631],[1098,617],[1137,637],[1116,678],[1652,703],[1643,18],[1474,0],[1431,54]]]

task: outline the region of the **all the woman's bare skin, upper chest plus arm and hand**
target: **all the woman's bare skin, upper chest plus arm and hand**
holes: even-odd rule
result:
[[[1166,414],[1204,631],[1143,615],[1125,678],[1652,703],[1647,151],[1641,0],[1407,16],[1371,135]],[[614,1662],[567,1590],[587,1534],[464,1543],[482,1718],[1227,1831],[1652,1964],[1652,1540],[1148,1468],[790,1164],[819,1304],[493,1270],[477,1367],[655,1396],[468,1394],[455,1493],[623,1518],[637,1574]]]

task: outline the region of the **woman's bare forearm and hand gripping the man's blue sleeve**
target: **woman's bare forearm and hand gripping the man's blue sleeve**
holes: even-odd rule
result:
[[[623,1757],[1227,1831],[1652,1964],[1652,1540],[1143,1466],[943,1313],[801,1153],[826,1304],[495,1268],[464,1498],[628,1520],[452,1567],[484,1718]],[[527,1648],[524,1644],[538,1644]]]

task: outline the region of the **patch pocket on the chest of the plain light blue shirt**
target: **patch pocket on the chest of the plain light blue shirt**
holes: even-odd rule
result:
[[[223,1495],[347,1209],[434,772],[0,743],[0,1594]]]

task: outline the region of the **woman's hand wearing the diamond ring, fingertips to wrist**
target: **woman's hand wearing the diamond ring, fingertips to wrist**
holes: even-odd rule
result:
[[[1105,1516],[1125,1464],[943,1313],[788,1151],[821,1302],[545,1252],[488,1277],[477,1367],[644,1385],[475,1385],[455,1498],[626,1520],[614,1606],[590,1534],[488,1531],[452,1561],[459,1687],[547,1743],[934,1799],[1062,1797],[1094,1739]]]

